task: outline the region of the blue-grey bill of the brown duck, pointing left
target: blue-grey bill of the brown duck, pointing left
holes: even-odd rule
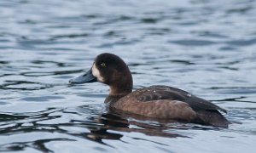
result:
[[[69,83],[86,83],[86,82],[96,82],[97,79],[92,75],[91,69],[90,71],[87,71],[86,73],[74,77],[73,79],[69,80]]]

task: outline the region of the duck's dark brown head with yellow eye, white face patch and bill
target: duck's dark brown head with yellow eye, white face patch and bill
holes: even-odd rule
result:
[[[90,70],[70,83],[102,82],[110,87],[110,95],[129,94],[132,90],[131,71],[123,59],[115,54],[99,54]]]

